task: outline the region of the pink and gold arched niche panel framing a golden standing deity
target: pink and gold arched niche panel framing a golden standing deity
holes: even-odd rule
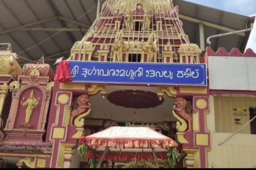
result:
[[[39,68],[41,64],[35,65]],[[19,82],[10,83],[12,102],[4,129],[7,136],[3,141],[6,146],[51,146],[49,143],[42,143],[51,96],[51,89],[47,89],[49,77],[42,76],[40,69],[36,68],[21,75]],[[17,141],[17,138],[21,140]]]

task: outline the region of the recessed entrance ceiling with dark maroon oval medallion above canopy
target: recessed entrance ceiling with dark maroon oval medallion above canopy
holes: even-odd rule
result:
[[[176,123],[172,114],[174,98],[157,96],[157,87],[106,86],[108,96],[90,97],[93,107],[87,119],[115,121],[120,126],[157,126]],[[101,106],[101,107],[97,107]]]

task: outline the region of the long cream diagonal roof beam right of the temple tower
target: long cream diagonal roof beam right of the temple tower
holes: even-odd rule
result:
[[[187,21],[191,21],[191,22],[194,22],[194,23],[198,23],[198,24],[203,24],[205,26],[212,27],[212,28],[215,28],[215,29],[218,29],[218,30],[221,30],[221,31],[225,31],[225,32],[237,31],[237,30],[233,30],[233,29],[228,28],[228,27],[223,27],[223,26],[213,24],[213,23],[210,23],[210,22],[198,20],[198,19],[188,17],[188,16],[185,16],[185,15],[182,15],[182,14],[179,14],[179,18],[187,20]],[[240,35],[240,36],[244,37],[245,33],[237,33],[237,35]]]

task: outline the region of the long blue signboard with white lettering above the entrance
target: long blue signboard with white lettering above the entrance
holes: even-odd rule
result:
[[[207,85],[206,64],[69,61],[72,82]]]

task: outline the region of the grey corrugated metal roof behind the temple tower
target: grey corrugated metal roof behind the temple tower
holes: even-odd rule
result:
[[[105,0],[102,0],[104,2]],[[97,0],[2,0],[0,1],[0,31],[23,26],[25,24],[40,21],[54,16],[62,16],[70,20],[76,20],[81,15],[89,11],[85,16],[80,18],[78,22],[91,25],[96,19]],[[174,5],[179,6],[180,14],[193,17],[199,20],[208,21],[214,24],[232,28],[234,30],[245,29],[246,23],[250,17],[221,11],[202,5],[190,3],[183,0],[174,0]],[[183,20],[183,28],[189,36],[191,43],[199,44],[198,25]],[[65,28],[71,22],[61,21],[59,19],[51,20],[43,24],[35,25],[35,28]],[[76,24],[69,28],[83,28]],[[25,49],[49,38],[56,32],[44,31],[12,31],[8,34],[0,35],[0,42],[10,42],[13,52],[19,53]],[[210,27],[205,27],[205,39],[208,36],[220,34],[221,31]],[[35,60],[42,55],[50,56],[71,49],[74,42],[83,38],[82,32],[61,32],[46,42],[27,50],[21,56]],[[240,47],[243,37],[233,35],[212,40],[212,48],[216,50],[218,47],[225,47],[231,50],[233,47]],[[206,42],[205,42],[206,44]],[[63,56],[64,54],[62,54]],[[67,57],[69,53],[64,55]],[[58,58],[60,56],[55,56]],[[21,63],[26,62],[21,60]]]

